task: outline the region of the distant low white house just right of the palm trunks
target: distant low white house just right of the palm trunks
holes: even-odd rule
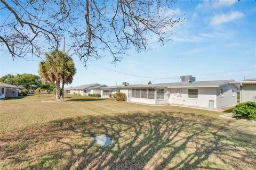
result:
[[[82,96],[87,96],[91,93],[91,88],[101,86],[98,83],[94,84],[84,84],[82,86],[78,87],[70,87],[70,88],[64,88],[64,91],[66,94],[81,94]]]

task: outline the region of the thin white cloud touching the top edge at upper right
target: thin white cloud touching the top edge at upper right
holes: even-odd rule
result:
[[[219,0],[219,1],[204,1],[202,4],[196,5],[196,10],[209,10],[212,8],[230,7],[234,5],[237,0]]]

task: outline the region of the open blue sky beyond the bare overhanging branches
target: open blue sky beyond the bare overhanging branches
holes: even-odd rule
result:
[[[197,81],[242,80],[256,77],[256,2],[255,1],[178,1],[166,15],[184,15],[186,20],[173,29],[172,40],[164,46],[153,44],[147,52],[127,51],[122,62],[111,64],[112,57],[89,62],[85,68],[73,57],[77,73],[70,86],[101,83],[109,86],[177,82],[178,79],[132,77],[108,69],[146,77],[193,75]],[[38,61],[15,60],[1,52],[0,76],[38,74]],[[101,67],[103,66],[103,67]]]

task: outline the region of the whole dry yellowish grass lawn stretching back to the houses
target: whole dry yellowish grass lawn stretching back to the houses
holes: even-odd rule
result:
[[[0,169],[255,169],[256,123],[220,112],[52,95],[0,101]],[[92,137],[106,134],[105,148]]]

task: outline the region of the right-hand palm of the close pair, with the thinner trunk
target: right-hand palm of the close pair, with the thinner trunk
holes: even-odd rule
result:
[[[68,56],[65,52],[59,53],[61,57],[62,72],[61,72],[61,80],[62,80],[62,93],[61,98],[64,100],[64,85],[71,84],[73,81],[73,77],[76,73],[75,63],[73,59]]]

